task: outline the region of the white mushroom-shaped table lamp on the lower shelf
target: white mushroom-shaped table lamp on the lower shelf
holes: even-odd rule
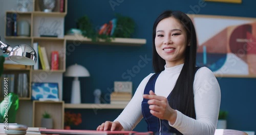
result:
[[[86,68],[84,68],[84,66],[79,64],[73,64],[68,67],[65,76],[74,77],[74,80],[72,82],[71,103],[80,104],[80,81],[78,80],[78,77],[90,77],[90,73]]]

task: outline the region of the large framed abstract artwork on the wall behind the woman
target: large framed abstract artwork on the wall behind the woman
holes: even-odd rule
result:
[[[256,77],[256,18],[189,15],[197,32],[197,65],[217,77]]]

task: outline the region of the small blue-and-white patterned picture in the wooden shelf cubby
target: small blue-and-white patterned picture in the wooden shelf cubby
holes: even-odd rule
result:
[[[32,100],[58,101],[58,83],[54,82],[32,82]]]

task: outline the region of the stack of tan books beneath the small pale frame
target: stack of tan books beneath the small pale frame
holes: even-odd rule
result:
[[[132,93],[113,92],[110,95],[111,104],[128,104],[132,99]]]

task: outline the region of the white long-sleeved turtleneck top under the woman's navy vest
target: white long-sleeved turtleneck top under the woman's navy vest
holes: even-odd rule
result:
[[[167,98],[176,84],[183,65],[177,65],[172,68],[166,68],[165,66],[165,70],[161,72],[156,80],[156,95]],[[143,118],[141,110],[142,95],[146,83],[152,75],[153,73],[141,81],[132,100],[114,120],[120,122],[124,130],[133,130]],[[179,130],[182,134],[214,134],[218,121],[221,92],[216,77],[206,67],[202,67],[196,72],[194,100],[196,120],[176,110],[176,122],[173,125],[169,123],[169,125]]]

